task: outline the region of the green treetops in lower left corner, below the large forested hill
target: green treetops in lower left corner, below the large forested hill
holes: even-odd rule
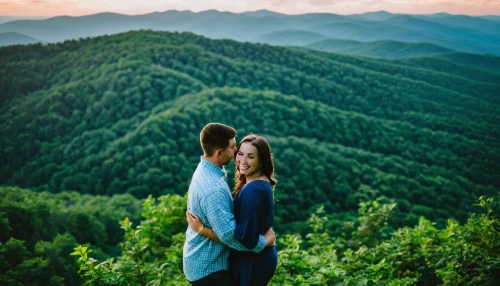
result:
[[[93,257],[119,256],[119,221],[141,219],[142,202],[113,197],[59,194],[0,187],[0,284],[79,285],[78,263],[69,254],[90,245]]]

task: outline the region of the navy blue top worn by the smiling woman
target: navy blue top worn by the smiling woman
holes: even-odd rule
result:
[[[234,237],[246,248],[254,248],[274,222],[273,189],[268,181],[255,180],[234,198]],[[240,286],[267,285],[278,264],[276,247],[259,253],[231,249],[231,271]]]

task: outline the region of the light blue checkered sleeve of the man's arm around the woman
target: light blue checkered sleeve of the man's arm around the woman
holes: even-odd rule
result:
[[[263,235],[258,238],[258,243],[252,247],[245,247],[235,238],[236,221],[231,213],[230,196],[226,190],[215,190],[205,195],[201,200],[201,207],[212,230],[225,245],[239,251],[252,251],[258,253],[266,246]],[[229,199],[229,200],[228,200]]]

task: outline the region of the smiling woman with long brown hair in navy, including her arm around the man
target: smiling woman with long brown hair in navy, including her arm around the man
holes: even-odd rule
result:
[[[259,234],[264,234],[274,221],[273,190],[276,178],[271,147],[264,137],[248,135],[238,144],[234,161],[234,236],[246,248],[253,249],[257,245]],[[187,217],[193,230],[206,229],[194,214],[189,212]],[[211,230],[203,233],[218,240]],[[231,249],[234,285],[267,285],[276,271],[277,264],[276,246],[264,248],[259,253]]]

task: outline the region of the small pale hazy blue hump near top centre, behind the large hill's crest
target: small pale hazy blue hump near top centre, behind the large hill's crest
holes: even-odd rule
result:
[[[268,43],[271,45],[291,45],[304,46],[318,41],[328,39],[327,36],[301,30],[285,30],[271,32],[262,35],[254,40],[254,42]]]

